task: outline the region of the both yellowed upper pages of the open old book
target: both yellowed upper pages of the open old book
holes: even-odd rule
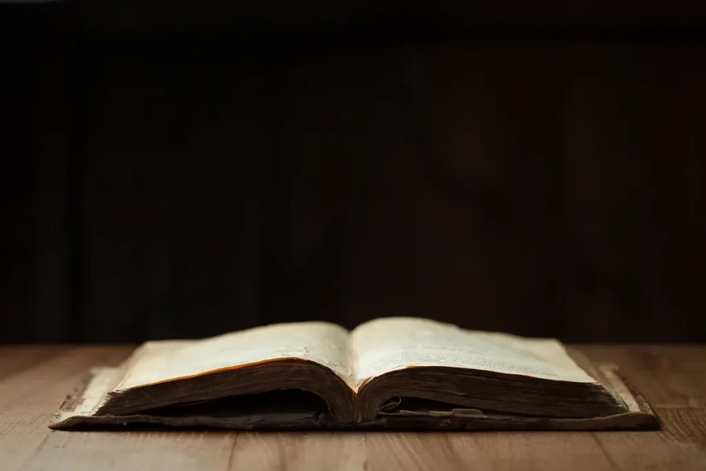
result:
[[[205,340],[147,342],[114,390],[280,359],[325,366],[357,391],[382,374],[447,366],[596,383],[554,339],[465,330],[424,318],[378,318],[349,333],[327,322],[282,323]]]

